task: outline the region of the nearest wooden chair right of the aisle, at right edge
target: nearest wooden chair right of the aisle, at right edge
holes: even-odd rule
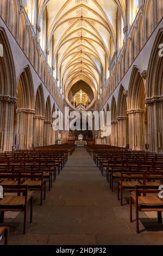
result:
[[[136,186],[135,196],[130,197],[130,222],[133,222],[132,205],[136,206],[136,232],[139,233],[139,211],[157,211],[158,222],[162,223],[163,200],[158,197],[158,186]],[[156,193],[156,196],[147,196]]]

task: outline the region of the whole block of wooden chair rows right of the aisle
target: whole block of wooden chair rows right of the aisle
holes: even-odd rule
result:
[[[136,208],[136,231],[139,233],[139,212],[158,212],[158,222],[162,222],[163,200],[159,198],[163,187],[163,155],[145,151],[108,149],[108,152],[92,151],[93,160],[105,174],[113,191],[113,181],[117,181],[117,198],[123,203],[123,191],[135,193],[129,197],[130,222],[133,221],[132,205]],[[151,195],[152,193],[152,195]]]

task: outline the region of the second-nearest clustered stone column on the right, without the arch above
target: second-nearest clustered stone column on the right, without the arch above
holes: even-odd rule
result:
[[[129,148],[145,150],[145,109],[132,109],[128,113]]]

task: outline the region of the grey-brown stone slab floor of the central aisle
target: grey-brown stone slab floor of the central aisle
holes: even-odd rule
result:
[[[135,221],[129,222],[129,206],[117,200],[116,183],[110,191],[91,156],[77,148],[53,184],[42,206],[34,193],[33,223],[27,222],[22,234],[23,214],[5,218],[9,225],[10,245],[162,245],[163,225],[155,218],[140,215],[136,234]],[[28,215],[29,221],[29,215]]]

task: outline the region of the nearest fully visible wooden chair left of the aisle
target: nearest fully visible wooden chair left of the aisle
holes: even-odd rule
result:
[[[28,196],[28,186],[27,185],[13,185],[3,186],[4,197],[0,200],[0,222],[4,221],[5,211],[23,211],[24,212],[24,224],[23,224],[23,234],[26,234],[26,220],[27,220],[27,207],[30,202],[30,223],[32,223],[33,215],[33,197]],[[5,193],[7,193],[5,195]],[[8,195],[12,193],[12,195]],[[22,194],[22,196],[13,196],[13,193]]]

